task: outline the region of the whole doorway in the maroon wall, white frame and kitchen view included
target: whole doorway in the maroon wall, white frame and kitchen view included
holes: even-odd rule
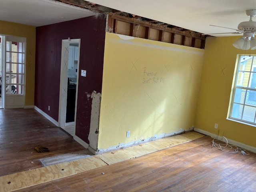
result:
[[[73,137],[76,127],[76,104],[80,39],[62,40],[59,126]]]

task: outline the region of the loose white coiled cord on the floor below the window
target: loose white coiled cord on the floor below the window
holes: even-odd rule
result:
[[[212,140],[212,146],[219,149],[219,150],[222,150],[224,152],[227,152],[227,153],[238,153],[238,154],[241,154],[241,155],[250,155],[249,152],[247,152],[245,149],[243,148],[238,148],[237,146],[235,145],[230,145],[228,144],[228,140],[226,139],[226,137],[222,137],[222,140],[224,143],[216,143],[215,142],[215,138]]]

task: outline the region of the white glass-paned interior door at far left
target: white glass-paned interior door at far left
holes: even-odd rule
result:
[[[23,108],[26,38],[6,36],[4,57],[4,108]],[[3,81],[3,79],[2,79]]]

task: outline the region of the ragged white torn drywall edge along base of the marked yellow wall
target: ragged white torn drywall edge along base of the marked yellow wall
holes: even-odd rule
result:
[[[153,141],[153,140],[157,140],[157,139],[161,139],[161,138],[166,138],[166,137],[170,137],[170,136],[190,132],[190,131],[193,131],[193,130],[194,130],[194,126],[192,126],[191,128],[189,128],[187,130],[180,129],[180,131],[178,131],[178,132],[172,132],[172,133],[168,133],[168,134],[160,134],[158,136],[154,136],[154,137],[150,137],[150,138],[146,138],[146,139],[142,139],[142,140],[137,140],[137,141],[133,141],[133,142],[129,142],[129,143],[122,143],[122,144],[118,144],[116,146],[109,147],[107,149],[98,149],[95,154],[102,154],[102,153],[114,151],[114,150],[117,150],[117,149],[127,148],[127,147],[131,147],[131,146],[138,145],[138,144],[141,144],[141,143],[145,143],[145,142],[148,142],[148,141]]]

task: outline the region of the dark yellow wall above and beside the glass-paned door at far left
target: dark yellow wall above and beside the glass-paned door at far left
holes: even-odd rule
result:
[[[34,105],[36,27],[0,21],[0,34],[26,38],[25,105]]]

